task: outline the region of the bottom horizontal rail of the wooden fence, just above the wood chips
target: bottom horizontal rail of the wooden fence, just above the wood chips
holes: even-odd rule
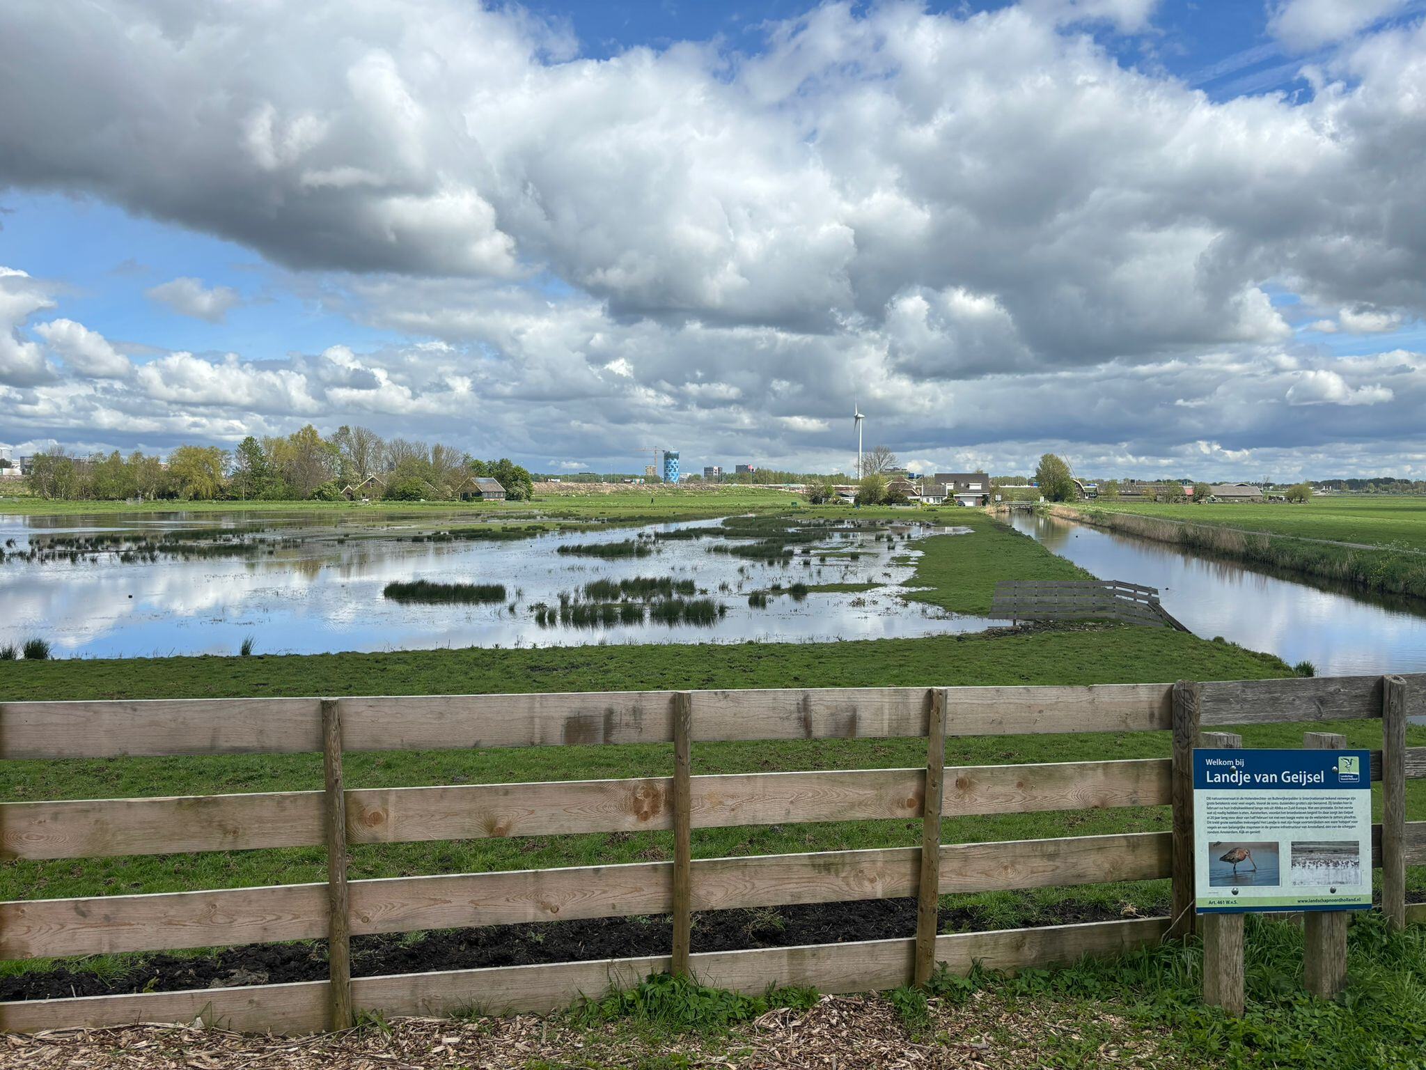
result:
[[[937,937],[935,957],[960,973],[974,962],[1018,970],[1075,962],[1085,954],[1122,954],[1158,943],[1165,927],[1164,919],[1142,919],[955,933]],[[866,940],[712,952],[693,954],[690,964],[704,983],[747,993],[761,993],[769,984],[809,986],[826,993],[870,992],[904,984],[910,976],[911,950],[910,939]],[[352,1000],[362,1010],[386,1016],[451,1014],[471,1010],[476,1003],[491,1013],[549,1013],[568,1007],[582,994],[599,996],[610,987],[629,987],[667,967],[667,956],[653,956],[356,977]],[[327,1027],[327,982],[304,982],[0,1003],[0,1030],[37,1033],[202,1019],[241,1031],[315,1033]]]

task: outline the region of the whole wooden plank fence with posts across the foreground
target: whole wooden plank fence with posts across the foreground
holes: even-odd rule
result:
[[[1387,798],[1426,776],[1405,746],[1426,715],[1426,675],[1387,705],[1373,779]],[[1393,689],[1393,695],[1402,693]],[[548,1012],[660,970],[739,990],[770,983],[860,992],[924,979],[934,962],[1017,969],[1108,954],[1192,927],[1189,755],[1201,728],[1383,718],[1382,678],[1091,688],[465,695],[0,703],[0,759],[322,752],[318,792],[24,802],[0,806],[7,859],[103,857],[327,845],[312,885],[0,903],[0,959],[171,950],[328,937],[331,980],[201,992],[0,1003],[0,1029],[204,1019],[240,1030],[314,1031],[354,1010]],[[1174,732],[1172,759],[944,768],[947,738]],[[925,738],[927,766],[692,776],[713,740]],[[674,743],[667,778],[347,789],[352,750]],[[1174,832],[943,845],[943,816],[1174,806]],[[921,847],[692,859],[690,830],[920,819]],[[673,829],[674,859],[526,872],[347,879],[356,843]],[[1426,863],[1426,822],[1387,807],[1378,865],[1402,924],[1405,866]],[[1175,916],[1005,932],[935,933],[938,895],[1174,877]],[[920,896],[914,939],[689,953],[693,910]],[[672,913],[669,956],[349,977],[361,933]]]

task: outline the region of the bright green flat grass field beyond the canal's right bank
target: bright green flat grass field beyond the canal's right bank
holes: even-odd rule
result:
[[[1239,531],[1266,531],[1333,542],[1360,542],[1386,549],[1426,552],[1426,498],[1389,495],[1312,498],[1303,504],[1228,505],[1128,504],[1098,499],[1095,508],[1164,516],[1188,524],[1221,524]]]

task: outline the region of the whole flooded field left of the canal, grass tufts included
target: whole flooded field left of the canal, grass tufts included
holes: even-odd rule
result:
[[[0,516],[0,646],[151,656],[876,639],[981,631],[898,596],[921,524],[607,529],[429,516]],[[830,589],[829,589],[830,588]],[[850,589],[848,589],[850,588]]]

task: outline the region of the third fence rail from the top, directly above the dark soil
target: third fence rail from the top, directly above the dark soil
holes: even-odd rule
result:
[[[1091,885],[1168,876],[1168,833],[1074,836],[941,847],[941,892]],[[693,909],[911,896],[915,847],[693,862]],[[673,865],[578,866],[354,880],[351,932],[666,913]],[[0,903],[0,959],[278,943],[327,934],[327,885]]]

